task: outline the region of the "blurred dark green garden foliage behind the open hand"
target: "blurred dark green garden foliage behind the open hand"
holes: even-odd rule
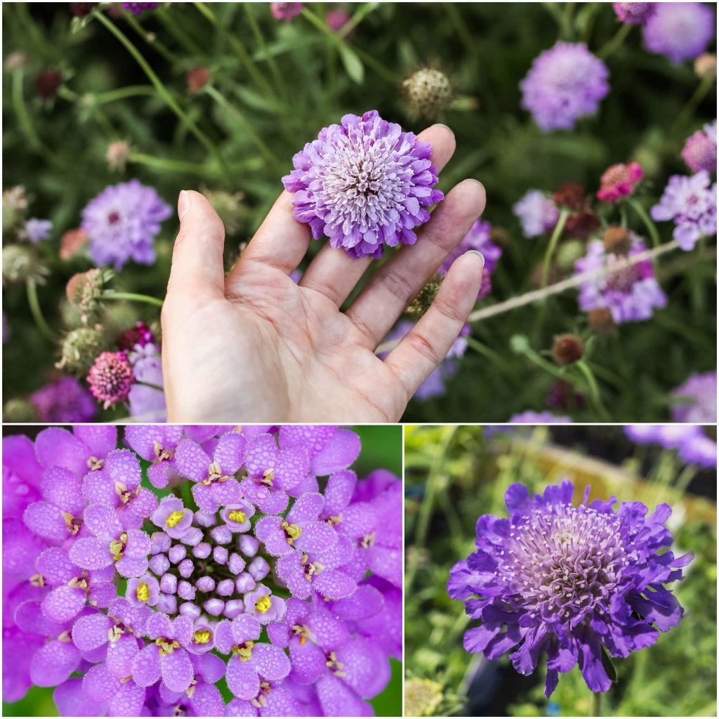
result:
[[[609,225],[645,247],[670,241],[672,224],[647,213],[670,176],[693,171],[682,148],[692,134],[710,134],[702,128],[715,119],[706,15],[715,4],[684,4],[687,17],[655,22],[664,45],[655,37],[652,50],[647,28],[621,22],[610,3],[270,5],[4,4],[8,421],[144,416],[148,407],[161,416],[159,304],[178,192],[197,188],[214,203],[229,268],[282,190],[293,154],[346,113],[377,109],[415,132],[435,121],[452,128],[457,152],[439,187],[484,183],[482,232],[501,250],[479,309],[571,277]],[[569,118],[571,128],[540,129],[520,83],[559,41],[584,43],[604,63],[608,88],[595,112]],[[598,201],[603,173],[623,162],[641,165],[641,185],[618,204]],[[124,258],[114,278],[111,262],[101,264],[91,296],[76,279],[70,303],[68,280],[95,266],[78,231],[83,208],[130,180],[160,201],[154,255]],[[571,199],[572,221],[526,237],[534,233],[513,206],[530,190],[554,202],[562,188],[554,200]],[[311,243],[301,269],[319,247]],[[710,236],[657,257],[649,271],[666,306],[643,321],[590,324],[576,289],[476,321],[406,420],[506,421],[528,409],[588,421],[669,418],[697,402],[674,393],[692,375],[715,383],[715,258]],[[568,365],[552,357],[565,334],[582,345]],[[139,336],[151,344],[132,359],[145,393],[102,411],[88,395],[88,370],[101,352],[131,351]]]

